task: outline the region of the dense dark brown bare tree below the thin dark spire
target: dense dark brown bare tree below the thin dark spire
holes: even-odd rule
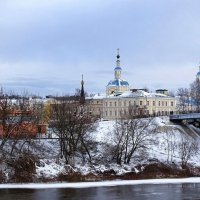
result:
[[[60,97],[52,104],[51,127],[59,137],[61,156],[67,164],[75,164],[75,154],[84,151],[91,161],[88,132],[93,130],[93,118],[87,106]]]

